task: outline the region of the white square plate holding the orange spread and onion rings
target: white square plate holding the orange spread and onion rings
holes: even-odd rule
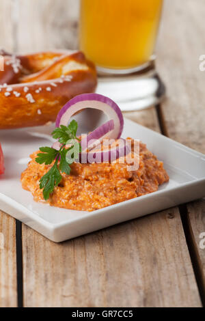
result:
[[[205,155],[125,119],[122,137],[133,137],[146,143],[148,149],[164,162],[170,178],[168,183],[160,186],[157,192],[94,212],[36,203],[31,193],[22,189],[20,173],[27,167],[29,154],[51,141],[52,129],[52,126],[40,126],[0,131],[6,167],[0,178],[0,209],[54,242],[205,196]]]

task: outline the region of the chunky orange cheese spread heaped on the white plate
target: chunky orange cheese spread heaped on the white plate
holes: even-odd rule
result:
[[[129,171],[126,163],[92,163],[71,165],[70,175],[61,173],[62,180],[48,201],[44,200],[39,180],[51,165],[40,165],[31,155],[27,169],[21,174],[23,189],[31,191],[35,201],[71,210],[93,211],[158,190],[169,176],[146,145],[139,145],[139,168]]]

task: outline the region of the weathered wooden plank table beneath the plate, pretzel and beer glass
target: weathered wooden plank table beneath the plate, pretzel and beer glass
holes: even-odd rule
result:
[[[77,46],[76,0],[0,0],[0,44],[38,51]],[[204,0],[165,1],[157,68],[167,85],[161,106],[128,113],[143,126],[205,153]],[[74,36],[73,36],[74,35]],[[202,307],[205,305],[205,201],[55,244],[0,212],[2,307]]]

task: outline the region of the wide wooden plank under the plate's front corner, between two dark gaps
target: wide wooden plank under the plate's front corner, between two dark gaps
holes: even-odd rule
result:
[[[54,244],[23,225],[26,307],[197,307],[178,210]]]

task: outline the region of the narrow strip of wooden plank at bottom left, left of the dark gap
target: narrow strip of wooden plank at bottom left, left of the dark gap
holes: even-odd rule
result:
[[[0,307],[16,305],[16,224],[0,211]]]

